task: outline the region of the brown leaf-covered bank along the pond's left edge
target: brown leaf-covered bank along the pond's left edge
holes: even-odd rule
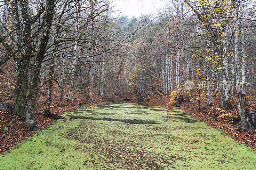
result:
[[[65,92],[67,92],[67,90],[68,89],[64,90],[64,94]],[[47,89],[44,90],[44,94],[47,94]],[[40,131],[44,129],[44,127],[51,125],[54,120],[51,117],[45,117],[43,115],[47,101],[47,95],[44,94],[38,93],[38,98],[36,102],[35,131]],[[54,86],[50,112],[61,115],[64,111],[78,108],[79,101],[82,101],[82,106],[84,107],[109,103],[109,101],[101,101],[100,96],[95,97],[91,101],[87,101],[88,103],[83,103],[83,101],[86,101],[86,99],[79,96],[75,92],[72,96],[73,98],[70,104],[67,104],[67,97],[65,98],[65,96],[60,101],[59,88],[57,86]],[[97,102],[95,102],[95,100]],[[11,99],[10,102],[12,102]],[[7,127],[8,131],[4,131],[4,127]],[[28,131],[26,127],[26,122],[22,121],[21,118],[15,114],[15,112],[8,114],[6,108],[0,109],[0,155],[10,150],[11,148],[15,148],[17,144],[19,144],[22,140],[29,138],[33,135],[34,132]]]

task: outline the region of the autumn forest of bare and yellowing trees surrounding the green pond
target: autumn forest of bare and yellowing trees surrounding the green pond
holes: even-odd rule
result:
[[[113,5],[0,1],[1,143],[19,138],[1,152],[63,111],[118,99],[193,112],[255,149],[255,2],[167,0],[132,18]]]

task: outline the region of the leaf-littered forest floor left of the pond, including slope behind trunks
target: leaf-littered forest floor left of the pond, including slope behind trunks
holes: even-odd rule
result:
[[[13,75],[5,75],[0,78],[0,103],[13,103],[14,83],[16,79]],[[40,85],[40,84],[39,84]],[[40,131],[44,127],[53,123],[53,118],[45,117],[44,110],[46,109],[48,85],[44,86],[44,94],[38,92],[36,101],[36,128],[35,131]],[[60,99],[60,89],[57,85],[52,89],[52,104],[51,113],[61,115],[63,111],[78,108],[78,102],[82,102],[82,106],[92,106],[98,104],[105,104],[108,101],[102,101],[100,96],[95,97],[93,100],[88,101],[88,98],[82,96],[73,90],[71,103],[67,105],[68,87],[64,89],[63,98]],[[83,101],[87,101],[86,103]],[[96,102],[95,102],[96,101]],[[59,105],[59,107],[58,107]],[[8,131],[3,128],[7,127]],[[28,131],[26,123],[16,116],[13,111],[8,114],[6,108],[0,108],[0,155],[11,148],[16,147],[22,140],[34,135],[33,131]]]

